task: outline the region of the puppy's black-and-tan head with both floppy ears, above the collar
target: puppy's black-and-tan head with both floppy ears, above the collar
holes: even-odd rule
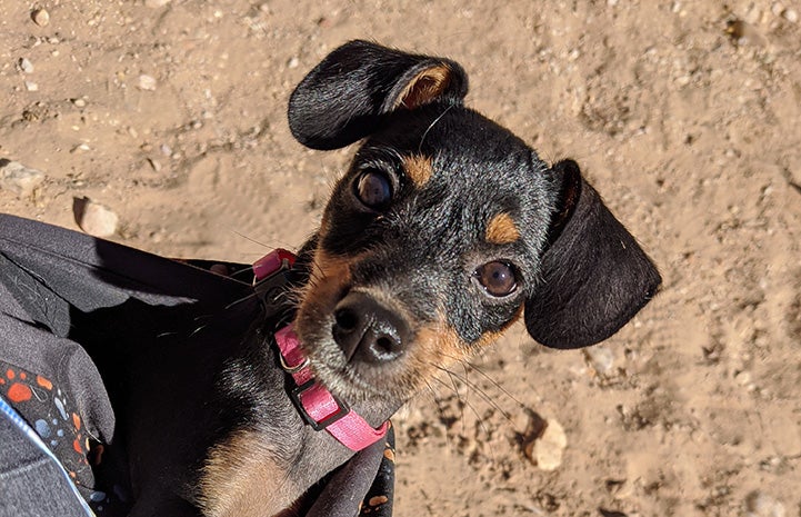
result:
[[[314,149],[366,139],[329,201],[296,328],[320,379],[397,406],[521,316],[555,348],[608,338],[661,279],[572,160],[463,106],[450,60],[366,41],[294,90]]]

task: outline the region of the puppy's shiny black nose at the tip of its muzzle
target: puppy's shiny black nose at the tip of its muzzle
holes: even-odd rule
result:
[[[333,315],[333,339],[348,360],[391,361],[403,354],[409,341],[403,318],[363,292],[348,294]]]

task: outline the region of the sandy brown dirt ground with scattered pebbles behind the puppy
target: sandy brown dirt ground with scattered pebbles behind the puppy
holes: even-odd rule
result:
[[[410,404],[396,514],[801,515],[801,6],[492,3],[0,2],[0,159],[43,173],[0,211],[77,229],[88,197],[168,256],[294,248],[352,150],[292,140],[292,87],[353,38],[450,57],[470,106],[582,165],[664,288],[588,352],[515,329]],[[564,430],[552,470],[524,408]]]

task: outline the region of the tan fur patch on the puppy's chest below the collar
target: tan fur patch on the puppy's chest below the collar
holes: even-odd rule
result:
[[[199,505],[208,517],[258,517],[288,508],[300,490],[254,431],[239,431],[209,453]],[[269,489],[263,489],[269,487]]]

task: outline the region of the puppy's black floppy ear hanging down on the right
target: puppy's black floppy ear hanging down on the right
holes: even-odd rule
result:
[[[552,169],[561,177],[561,207],[542,257],[542,282],[525,300],[525,327],[548,347],[579,348],[617,332],[662,279],[579,166],[564,160]]]

